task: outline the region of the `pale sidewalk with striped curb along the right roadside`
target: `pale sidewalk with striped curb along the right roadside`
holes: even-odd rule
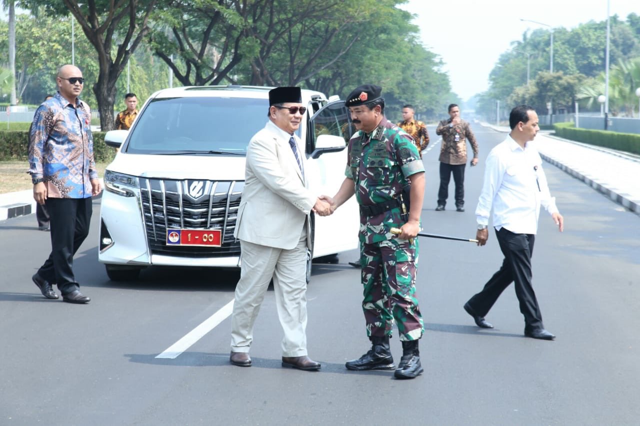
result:
[[[499,132],[509,127],[481,123]],[[569,141],[540,132],[534,141],[543,160],[640,214],[640,156]]]

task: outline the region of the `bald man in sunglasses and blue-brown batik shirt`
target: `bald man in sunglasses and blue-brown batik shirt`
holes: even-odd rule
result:
[[[47,299],[58,299],[58,284],[68,303],[89,303],[73,271],[77,249],[89,233],[92,196],[100,194],[93,161],[91,109],[79,99],[84,78],[79,68],[63,65],[58,93],[38,107],[29,135],[29,173],[33,198],[47,206],[51,254],[31,279]]]

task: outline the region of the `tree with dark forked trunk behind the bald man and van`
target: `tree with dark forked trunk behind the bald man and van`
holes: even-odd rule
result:
[[[100,113],[102,130],[113,129],[116,82],[127,61],[149,31],[149,18],[157,0],[30,0],[55,16],[76,19],[95,48],[99,65],[93,93]],[[117,40],[122,40],[117,44]],[[115,49],[115,54],[113,54]]]

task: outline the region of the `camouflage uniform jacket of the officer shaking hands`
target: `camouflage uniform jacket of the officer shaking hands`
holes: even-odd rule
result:
[[[353,179],[360,205],[374,205],[397,199],[410,185],[408,177],[424,172],[418,148],[402,129],[383,118],[371,134],[362,130],[349,140],[345,175]],[[408,212],[407,212],[408,213]],[[360,214],[360,242],[393,239],[390,228],[407,221],[401,207],[376,216]]]

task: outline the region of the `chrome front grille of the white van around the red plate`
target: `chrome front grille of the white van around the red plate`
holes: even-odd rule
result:
[[[182,257],[239,256],[234,239],[241,181],[140,178],[145,229],[151,253]],[[220,229],[221,247],[167,246],[167,229]]]

